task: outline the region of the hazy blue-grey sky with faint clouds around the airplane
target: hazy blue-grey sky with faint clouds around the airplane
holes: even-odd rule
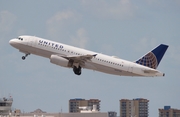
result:
[[[101,100],[101,112],[116,111],[121,99],[149,100],[149,117],[166,105],[180,109],[180,1],[0,0],[0,97],[13,108],[68,112],[74,98]],[[32,35],[134,61],[159,44],[169,48],[158,70],[165,77],[124,77],[50,63],[9,45]]]

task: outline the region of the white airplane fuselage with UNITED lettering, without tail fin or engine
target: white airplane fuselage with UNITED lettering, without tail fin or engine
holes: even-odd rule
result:
[[[12,39],[10,44],[25,54],[35,54],[50,58],[51,55],[60,56],[83,56],[94,55],[90,60],[81,64],[82,68],[92,69],[108,74],[122,76],[163,76],[164,74],[134,62],[123,60],[117,57],[104,55],[101,53],[88,51],[85,49],[69,46],[66,44],[46,40],[35,36],[21,36],[23,40]],[[155,72],[144,72],[155,71]]]

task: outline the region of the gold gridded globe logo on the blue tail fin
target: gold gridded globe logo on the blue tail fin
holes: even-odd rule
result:
[[[136,61],[136,63],[153,69],[156,69],[158,64],[156,56],[152,52],[146,54],[144,57]]]

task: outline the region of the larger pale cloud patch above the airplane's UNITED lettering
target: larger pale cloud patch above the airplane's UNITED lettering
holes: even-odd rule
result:
[[[47,20],[47,33],[52,38],[69,35],[69,29],[81,19],[81,16],[71,10],[60,11]]]

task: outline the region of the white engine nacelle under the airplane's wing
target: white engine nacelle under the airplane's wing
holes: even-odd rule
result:
[[[58,55],[51,55],[50,62],[53,64],[56,64],[56,65],[60,65],[62,67],[70,67],[71,66],[69,60],[67,60],[63,57],[60,57]]]

